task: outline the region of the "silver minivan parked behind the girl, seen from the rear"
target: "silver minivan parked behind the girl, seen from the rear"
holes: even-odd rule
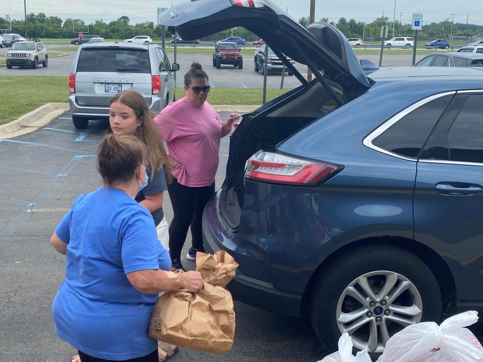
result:
[[[75,128],[89,120],[108,118],[109,101],[125,89],[140,93],[149,109],[159,112],[174,99],[173,72],[162,47],[156,44],[83,44],[75,53],[69,76],[69,106]]]

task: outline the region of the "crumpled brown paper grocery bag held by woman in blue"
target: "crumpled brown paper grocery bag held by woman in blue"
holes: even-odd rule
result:
[[[149,336],[185,348],[226,353],[235,333],[233,300],[227,290],[207,281],[226,285],[238,264],[224,251],[198,253],[196,264],[204,288],[196,294],[170,291],[160,296],[154,305]]]

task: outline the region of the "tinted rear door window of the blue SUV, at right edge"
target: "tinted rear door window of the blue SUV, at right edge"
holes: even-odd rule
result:
[[[483,163],[483,95],[472,95],[448,132],[451,161]]]

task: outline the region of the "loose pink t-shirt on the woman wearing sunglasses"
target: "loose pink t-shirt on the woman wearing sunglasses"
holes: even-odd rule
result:
[[[155,118],[168,152],[181,163],[173,175],[181,185],[210,186],[219,163],[222,122],[208,102],[197,107],[186,97],[170,103]]]

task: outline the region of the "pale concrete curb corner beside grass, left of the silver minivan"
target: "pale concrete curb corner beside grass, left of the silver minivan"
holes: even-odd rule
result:
[[[18,120],[0,126],[0,139],[35,131],[69,109],[68,103],[47,103]]]

